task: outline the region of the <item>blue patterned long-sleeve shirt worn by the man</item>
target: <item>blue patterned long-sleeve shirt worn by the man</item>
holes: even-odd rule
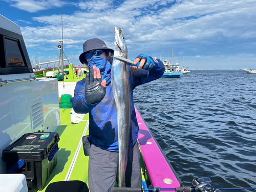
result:
[[[154,67],[147,70],[130,68],[130,83],[132,90],[140,84],[160,78],[164,73],[164,66],[161,60],[152,59]],[[111,82],[106,85],[104,98],[96,104],[89,103],[85,98],[86,78],[77,82],[74,97],[71,98],[73,109],[76,113],[89,113],[89,137],[92,143],[104,150],[118,152],[117,133],[117,112],[116,102],[113,95]],[[139,126],[135,114],[135,107],[132,97],[132,120],[130,127],[130,146],[133,146],[138,139]]]

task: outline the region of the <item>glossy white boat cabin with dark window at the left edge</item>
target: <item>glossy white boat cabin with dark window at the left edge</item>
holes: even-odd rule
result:
[[[60,122],[57,79],[36,79],[19,26],[0,15],[0,174],[2,151],[25,133]]]

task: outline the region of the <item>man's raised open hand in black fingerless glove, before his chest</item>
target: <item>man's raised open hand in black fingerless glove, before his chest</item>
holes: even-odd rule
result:
[[[86,100],[95,104],[100,102],[106,94],[106,80],[103,80],[96,66],[90,67],[90,73],[86,76]]]

